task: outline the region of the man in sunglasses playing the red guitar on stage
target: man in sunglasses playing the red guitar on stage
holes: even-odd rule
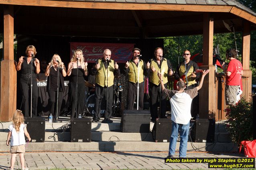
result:
[[[174,78],[177,81],[185,81],[187,82],[185,90],[193,89],[197,87],[197,79],[200,77],[200,73],[196,72],[197,69],[199,69],[198,65],[190,60],[191,54],[189,50],[185,50],[183,52],[183,58],[184,62],[181,62],[174,73]],[[187,73],[187,78],[186,78]],[[199,95],[197,95],[195,98],[193,98],[191,103],[191,116],[196,117],[198,114],[198,104],[199,104]]]

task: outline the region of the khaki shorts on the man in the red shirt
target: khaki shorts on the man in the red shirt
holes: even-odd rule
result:
[[[228,86],[226,85],[226,105],[236,104],[236,93],[238,91],[238,86]]]

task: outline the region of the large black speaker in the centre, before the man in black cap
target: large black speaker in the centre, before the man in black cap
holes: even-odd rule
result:
[[[149,110],[124,110],[121,119],[122,132],[148,133],[150,129]]]

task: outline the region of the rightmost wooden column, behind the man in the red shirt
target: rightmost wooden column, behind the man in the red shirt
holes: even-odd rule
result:
[[[242,64],[243,64],[243,93],[247,100],[251,98],[250,94],[252,93],[252,71],[250,70],[250,22],[244,21],[244,29],[243,29],[243,39],[242,39]]]

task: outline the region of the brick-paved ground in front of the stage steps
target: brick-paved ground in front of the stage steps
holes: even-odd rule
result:
[[[27,152],[25,163],[30,170],[69,169],[207,169],[206,163],[164,163],[167,152]],[[178,153],[175,156],[179,156]],[[188,152],[188,158],[236,158],[234,153]],[[0,152],[0,170],[7,169],[11,154]],[[18,158],[18,156],[17,156]],[[15,169],[21,168],[19,158]]]

